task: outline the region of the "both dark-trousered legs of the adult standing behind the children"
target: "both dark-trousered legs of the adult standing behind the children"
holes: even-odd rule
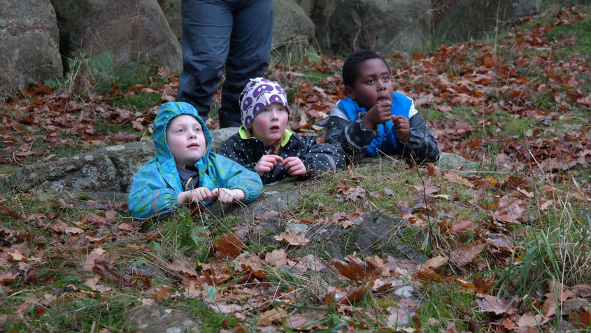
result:
[[[183,72],[177,101],[208,118],[224,65],[220,127],[240,126],[238,97],[269,67],[273,0],[183,0]]]

